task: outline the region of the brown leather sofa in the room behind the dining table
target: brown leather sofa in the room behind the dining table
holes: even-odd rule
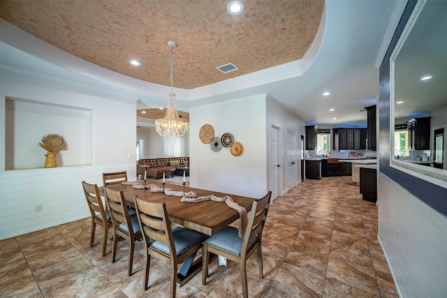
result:
[[[142,165],[147,165],[148,167],[141,167]],[[146,169],[147,178],[163,178],[163,172],[166,177],[174,177],[175,168],[184,167],[185,165],[189,165],[189,157],[144,158],[137,163],[137,177],[139,175],[144,177]]]

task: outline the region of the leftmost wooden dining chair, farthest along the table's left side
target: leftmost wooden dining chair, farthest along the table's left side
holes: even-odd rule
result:
[[[84,188],[85,199],[89,205],[91,214],[91,232],[90,232],[90,247],[93,247],[96,224],[101,225],[104,230],[103,239],[103,257],[105,256],[105,250],[107,249],[107,238],[109,228],[112,227],[112,218],[110,218],[110,212],[107,209],[107,205],[103,205],[103,200],[99,194],[98,186],[96,184],[88,184],[82,181],[82,188]]]

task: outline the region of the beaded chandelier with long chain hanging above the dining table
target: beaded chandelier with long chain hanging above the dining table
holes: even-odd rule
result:
[[[163,119],[155,120],[155,126],[156,132],[162,137],[171,135],[182,137],[188,131],[189,121],[180,119],[175,105],[175,94],[173,92],[173,48],[175,47],[175,42],[168,41],[168,45],[170,46],[170,94],[168,108]]]

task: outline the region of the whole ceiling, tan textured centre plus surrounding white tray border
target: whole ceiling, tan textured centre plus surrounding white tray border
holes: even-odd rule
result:
[[[166,107],[167,42],[175,40],[174,92],[181,111],[266,94],[306,124],[365,125],[360,110],[379,96],[381,43],[390,20],[399,20],[393,11],[402,13],[405,1],[243,0],[245,10],[237,16],[226,13],[229,1],[1,0],[0,68],[138,98],[138,110]],[[115,37],[117,27],[125,30]],[[62,45],[43,41],[55,37]],[[129,66],[132,58],[142,67]],[[216,70],[228,62],[240,70]]]

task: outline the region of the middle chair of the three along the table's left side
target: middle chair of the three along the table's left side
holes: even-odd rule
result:
[[[116,261],[118,237],[129,240],[129,276],[132,275],[133,251],[135,250],[135,241],[142,239],[140,224],[136,216],[129,216],[129,209],[122,191],[115,191],[105,186],[105,199],[112,217],[113,225],[113,246],[112,263]]]

